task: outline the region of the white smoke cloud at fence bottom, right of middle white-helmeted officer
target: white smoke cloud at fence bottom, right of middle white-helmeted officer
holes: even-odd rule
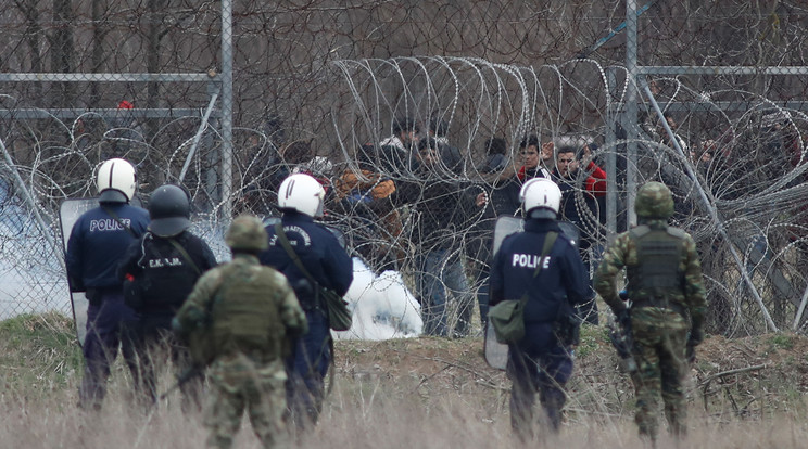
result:
[[[333,332],[338,339],[389,339],[420,335],[420,305],[404,285],[397,271],[374,274],[358,258],[353,259],[354,280],[345,294],[353,324]]]

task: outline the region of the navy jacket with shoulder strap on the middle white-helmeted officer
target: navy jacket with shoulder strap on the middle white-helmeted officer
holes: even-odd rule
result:
[[[315,223],[312,217],[295,211],[283,213],[281,223],[289,243],[312,277],[321,286],[344,295],[353,281],[353,262],[331,231]],[[269,249],[260,255],[261,262],[286,274],[289,284],[295,288],[306,277],[277,241],[275,227],[268,226],[266,232],[269,234]],[[311,310],[315,306],[314,292],[301,294],[295,288],[295,293],[304,309]]]

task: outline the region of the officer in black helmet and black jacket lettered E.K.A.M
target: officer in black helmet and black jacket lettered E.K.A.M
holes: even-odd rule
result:
[[[144,402],[156,401],[154,360],[168,350],[179,372],[190,368],[188,350],[177,342],[172,319],[203,272],[216,266],[210,246],[188,228],[190,203],[177,185],[159,187],[149,198],[148,232],[129,245],[118,278],[126,286],[124,299],[138,313],[136,350]],[[199,377],[197,377],[199,379]],[[195,401],[199,383],[181,385],[184,405]]]

